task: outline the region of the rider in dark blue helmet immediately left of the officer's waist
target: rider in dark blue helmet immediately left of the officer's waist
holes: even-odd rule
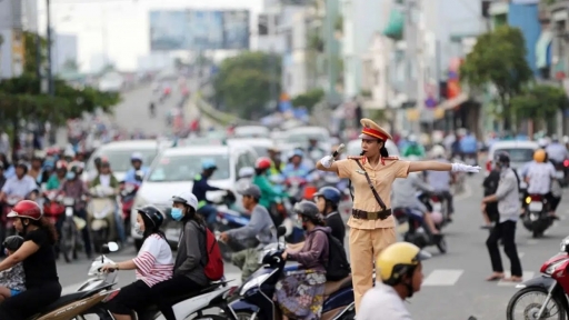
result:
[[[338,212],[338,206],[341,199],[342,196],[340,191],[333,187],[320,188],[320,190],[315,193],[316,206],[320,214],[325,217],[326,226],[330,227],[331,234],[343,244],[346,224],[343,223],[342,217],[340,217],[340,212]]]

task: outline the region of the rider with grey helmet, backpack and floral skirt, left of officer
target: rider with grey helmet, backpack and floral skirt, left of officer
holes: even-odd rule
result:
[[[282,319],[320,319],[325,300],[326,266],[329,258],[328,234],[322,216],[315,202],[302,200],[293,208],[306,230],[302,248],[288,248],[282,259],[299,262],[298,271],[284,276],[276,286],[273,300]]]

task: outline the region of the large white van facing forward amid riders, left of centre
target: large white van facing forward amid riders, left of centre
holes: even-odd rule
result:
[[[161,209],[172,206],[172,197],[183,190],[190,190],[193,179],[201,173],[201,162],[204,159],[216,161],[218,170],[209,179],[211,186],[234,190],[237,173],[241,168],[254,167],[257,153],[249,146],[193,146],[169,148],[157,157],[150,172],[144,177],[142,186],[137,192],[132,208],[140,208],[147,204],[154,204]],[[208,199],[216,201],[223,192],[209,192]],[[131,226],[137,221],[137,211],[132,210]],[[170,243],[178,243],[180,237],[179,228],[166,229],[166,238]],[[142,237],[134,229],[131,230],[134,244],[139,248],[142,244]]]

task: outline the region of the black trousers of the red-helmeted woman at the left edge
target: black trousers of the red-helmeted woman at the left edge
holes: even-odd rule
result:
[[[59,297],[61,297],[61,284],[56,281],[28,288],[20,294],[6,299],[0,304],[0,319],[28,319],[56,302]]]

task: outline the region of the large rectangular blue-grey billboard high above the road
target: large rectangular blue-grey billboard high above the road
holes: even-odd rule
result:
[[[150,50],[247,50],[248,10],[150,12]]]

